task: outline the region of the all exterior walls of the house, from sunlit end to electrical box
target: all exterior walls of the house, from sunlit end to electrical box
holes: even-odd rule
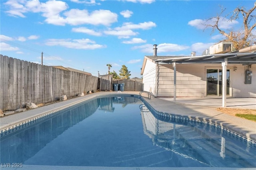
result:
[[[237,71],[233,68],[237,67]],[[221,64],[176,64],[176,97],[206,97],[206,69],[222,69]],[[230,96],[256,97],[256,65],[252,71],[252,84],[244,84],[248,66],[228,64],[230,69]],[[158,73],[157,73],[158,72]],[[143,72],[144,90],[157,97],[174,96],[174,69],[172,64],[157,65],[147,60]]]

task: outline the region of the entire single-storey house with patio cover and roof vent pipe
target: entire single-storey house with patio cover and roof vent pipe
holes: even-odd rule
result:
[[[256,97],[256,45],[200,56],[157,56],[156,45],[153,49],[152,56],[144,57],[141,75],[144,90],[156,97],[220,96],[222,91]]]

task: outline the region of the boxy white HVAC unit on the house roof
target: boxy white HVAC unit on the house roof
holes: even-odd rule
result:
[[[232,49],[232,42],[220,42],[210,46],[210,54],[228,53]]]

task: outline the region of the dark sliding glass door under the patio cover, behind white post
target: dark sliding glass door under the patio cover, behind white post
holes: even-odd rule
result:
[[[206,95],[222,95],[222,69],[207,69]],[[230,87],[230,70],[227,69],[227,95]]]

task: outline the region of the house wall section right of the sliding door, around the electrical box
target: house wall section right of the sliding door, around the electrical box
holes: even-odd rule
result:
[[[248,66],[235,65],[237,71],[232,71],[232,97],[256,97],[256,65],[249,68],[252,71],[252,84],[244,84],[245,71]]]

